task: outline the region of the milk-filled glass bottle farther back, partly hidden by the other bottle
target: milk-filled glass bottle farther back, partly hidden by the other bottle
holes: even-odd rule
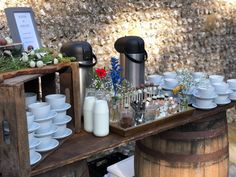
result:
[[[95,89],[87,88],[83,106],[84,130],[87,132],[93,132],[93,109],[95,100]]]

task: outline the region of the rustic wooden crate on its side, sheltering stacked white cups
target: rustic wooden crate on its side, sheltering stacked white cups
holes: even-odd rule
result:
[[[26,73],[27,70],[0,74],[4,79],[0,84],[0,176],[3,177],[30,176],[32,167],[29,162],[24,93],[35,92],[39,96],[39,78],[41,78],[43,99],[47,94],[56,93],[58,87],[55,80],[59,78],[60,93],[66,94],[67,102],[71,104],[67,112],[72,117],[69,127],[74,133],[79,133],[81,130],[78,63],[29,69],[28,73],[31,74],[24,75]],[[9,124],[10,142],[5,139],[3,122]],[[60,140],[60,144],[64,141],[65,139]],[[51,153],[53,150],[44,153],[42,159]]]

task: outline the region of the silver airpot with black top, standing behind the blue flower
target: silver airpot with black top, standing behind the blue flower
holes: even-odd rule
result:
[[[147,60],[144,40],[138,36],[125,36],[116,40],[115,49],[120,53],[122,76],[133,86],[144,84],[145,61]]]

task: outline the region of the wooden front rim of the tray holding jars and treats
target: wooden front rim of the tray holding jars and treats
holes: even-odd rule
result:
[[[178,112],[176,114],[172,114],[170,116],[163,117],[163,118],[160,118],[158,120],[143,123],[143,124],[133,126],[133,127],[129,127],[129,128],[122,128],[122,127],[119,126],[118,123],[110,123],[110,130],[111,130],[111,132],[117,133],[117,134],[119,134],[121,136],[124,136],[124,137],[131,136],[131,135],[134,135],[138,132],[142,132],[142,131],[145,131],[147,129],[155,128],[159,125],[162,125],[163,123],[167,123],[167,122],[171,123],[171,121],[173,119],[178,119],[179,117],[183,118],[183,117],[186,117],[186,116],[191,116],[193,114],[194,110],[195,110],[195,108],[188,107],[186,111]]]

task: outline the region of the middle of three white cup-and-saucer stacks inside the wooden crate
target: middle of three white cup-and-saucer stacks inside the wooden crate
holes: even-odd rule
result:
[[[59,142],[52,138],[53,133],[57,128],[53,125],[52,119],[57,113],[51,110],[51,106],[47,102],[37,102],[28,105],[29,111],[35,117],[40,127],[35,131],[35,137],[39,139],[40,144],[36,146],[35,150],[38,152],[46,152],[56,148]]]

